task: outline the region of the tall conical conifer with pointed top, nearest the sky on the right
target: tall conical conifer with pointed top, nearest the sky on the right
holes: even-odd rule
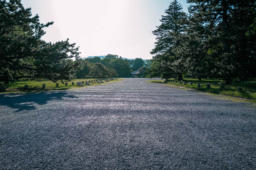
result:
[[[182,12],[181,4],[176,0],[171,2],[165,13],[167,15],[162,16],[160,20],[162,24],[153,31],[153,34],[157,36],[157,42],[155,42],[155,48],[151,51],[151,54],[154,55],[153,62],[155,63],[151,70],[159,70],[159,75],[162,78],[168,79],[178,75],[178,79],[181,80],[181,70],[171,69],[171,63],[177,60],[175,53],[173,53],[173,48],[179,46],[179,41],[177,41],[176,37],[183,32],[184,25],[181,24],[180,20],[185,19],[186,14]]]

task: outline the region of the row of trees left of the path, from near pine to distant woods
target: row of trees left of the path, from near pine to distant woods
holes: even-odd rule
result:
[[[82,60],[79,47],[68,39],[56,43],[41,40],[46,33],[43,29],[52,24],[40,23],[38,15],[32,17],[31,8],[25,9],[21,0],[0,0],[0,81],[126,77],[144,65],[141,58],[130,61],[111,54],[102,60]]]

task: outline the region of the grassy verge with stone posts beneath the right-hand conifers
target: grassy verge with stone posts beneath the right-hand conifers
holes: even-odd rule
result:
[[[227,95],[233,95],[233,96],[240,96],[240,97],[246,97],[246,98],[252,98],[256,99],[256,81],[242,81],[242,82],[233,82],[230,85],[224,85],[224,89],[220,89],[220,81],[221,79],[202,79],[199,81],[198,79],[184,79],[186,82],[185,84],[181,84],[179,82],[172,82],[171,81],[164,81],[164,83],[175,85],[175,86],[182,86],[182,87],[188,87],[199,91],[207,91],[211,93],[217,93],[217,94],[227,94]],[[149,81],[152,83],[162,83],[162,80],[153,80]],[[192,85],[190,85],[190,82]],[[200,83],[201,87],[197,87],[197,83]],[[206,88],[206,84],[210,84],[211,88]],[[239,92],[237,91],[237,87],[242,87],[243,91]]]

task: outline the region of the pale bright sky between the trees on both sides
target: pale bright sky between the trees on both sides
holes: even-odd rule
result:
[[[152,31],[172,0],[22,0],[45,28],[43,40],[69,38],[80,46],[82,58],[115,54],[123,58],[152,59]],[[178,0],[187,12],[186,0]]]

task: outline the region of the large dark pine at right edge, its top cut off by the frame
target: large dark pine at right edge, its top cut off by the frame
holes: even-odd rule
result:
[[[255,19],[255,1],[188,2],[194,4],[190,7],[190,14],[200,16],[197,22],[203,26],[203,34],[206,35],[203,43],[212,46],[205,52],[212,50],[211,56],[215,56],[212,59],[222,72],[225,83],[230,84],[232,76],[247,77],[248,66],[255,63],[255,36],[246,34]]]

